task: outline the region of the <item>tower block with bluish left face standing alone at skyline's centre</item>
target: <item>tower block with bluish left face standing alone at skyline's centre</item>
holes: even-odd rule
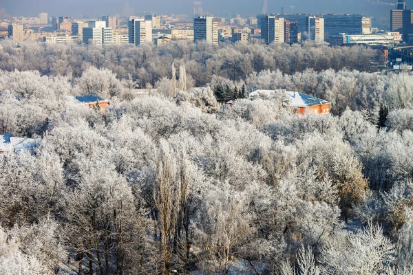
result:
[[[193,41],[202,40],[218,44],[218,18],[198,17],[193,19]]]

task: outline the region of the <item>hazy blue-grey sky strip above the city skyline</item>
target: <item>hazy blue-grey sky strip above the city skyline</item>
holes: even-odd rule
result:
[[[36,16],[47,12],[50,16],[80,17],[103,14],[123,14],[127,0],[0,0],[0,8],[12,16]],[[390,14],[396,0],[268,0],[268,12],[279,12],[284,6],[287,13],[362,13],[375,17]],[[407,8],[413,8],[413,0],[407,1]],[[229,17],[237,13],[255,16],[262,10],[263,0],[204,0],[204,12],[215,16]],[[191,14],[193,0],[129,0],[135,13],[153,11],[161,14]],[[293,7],[293,8],[289,8]]]

